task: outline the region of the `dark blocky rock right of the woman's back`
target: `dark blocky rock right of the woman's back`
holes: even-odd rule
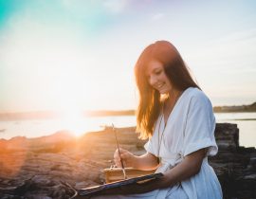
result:
[[[225,198],[256,198],[256,150],[239,146],[236,124],[220,123],[215,130],[219,152],[210,157]]]

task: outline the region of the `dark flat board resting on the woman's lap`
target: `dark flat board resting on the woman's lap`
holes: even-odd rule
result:
[[[84,188],[82,190],[78,190],[78,196],[90,196],[94,194],[101,194],[103,190],[110,190],[110,189],[116,189],[119,187],[131,185],[131,184],[143,184],[145,182],[156,180],[162,177],[163,174],[161,172],[154,173],[154,174],[147,174],[142,175],[139,177],[134,177],[126,180],[120,180],[113,183],[107,183],[100,186],[90,187],[90,188]]]

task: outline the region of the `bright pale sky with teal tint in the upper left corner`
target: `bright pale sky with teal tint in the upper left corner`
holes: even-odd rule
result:
[[[0,0],[0,112],[134,109],[141,50],[168,40],[212,105],[256,100],[256,1]]]

